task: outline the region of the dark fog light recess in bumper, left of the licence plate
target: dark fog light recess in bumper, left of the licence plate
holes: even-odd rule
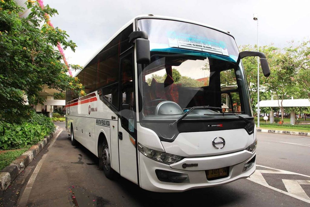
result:
[[[158,180],[162,182],[189,182],[188,174],[175,173],[166,170],[155,170]]]

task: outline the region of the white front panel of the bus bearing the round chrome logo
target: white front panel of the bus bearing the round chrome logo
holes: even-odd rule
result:
[[[212,141],[225,140],[225,145],[212,145]],[[180,133],[173,142],[162,142],[167,153],[183,157],[199,157],[221,155],[244,150],[254,142],[254,135],[249,135],[245,129],[231,129],[210,132]],[[223,148],[220,148],[223,147]]]

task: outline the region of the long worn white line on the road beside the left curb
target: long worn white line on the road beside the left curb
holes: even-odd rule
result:
[[[47,149],[49,149],[54,144],[55,140],[58,138],[58,136],[60,135],[60,133],[62,131],[63,131],[62,129],[59,131],[59,133],[57,134],[57,136],[54,138],[53,142],[51,142],[50,146],[48,146]],[[42,158],[38,162],[36,168],[33,170],[33,173],[32,173],[31,177],[28,180],[28,183],[27,183],[27,185],[25,187],[25,190],[24,190],[23,194],[20,197],[20,200],[18,202],[18,206],[24,207],[24,206],[27,205],[27,202],[28,202],[28,199],[29,199],[29,196],[30,196],[30,192],[31,192],[31,189],[32,189],[32,186],[33,186],[33,183],[34,183],[34,181],[37,178],[37,175],[38,175],[38,173],[39,173],[39,171],[41,169],[41,166],[42,166],[42,164],[43,164],[43,162],[44,162],[44,160],[46,158],[46,155],[47,154],[42,156]]]

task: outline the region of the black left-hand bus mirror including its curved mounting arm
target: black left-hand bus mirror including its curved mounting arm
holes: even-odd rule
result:
[[[136,55],[138,64],[148,64],[150,57],[150,41],[148,34],[144,31],[134,31],[129,35],[129,43],[136,44]]]

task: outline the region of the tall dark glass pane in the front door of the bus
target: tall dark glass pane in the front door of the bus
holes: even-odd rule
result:
[[[134,132],[134,81],[132,53],[121,59],[121,122],[130,133]]]

